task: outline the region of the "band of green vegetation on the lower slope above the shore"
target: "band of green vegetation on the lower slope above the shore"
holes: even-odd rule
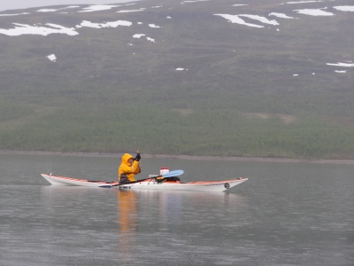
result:
[[[354,151],[351,125],[227,109],[42,107],[0,125],[2,149],[336,159]]]

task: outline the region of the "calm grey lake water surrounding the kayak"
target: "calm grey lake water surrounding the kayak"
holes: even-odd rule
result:
[[[142,174],[249,177],[232,192],[53,186],[119,158],[0,155],[0,265],[353,265],[354,166],[143,159]]]

